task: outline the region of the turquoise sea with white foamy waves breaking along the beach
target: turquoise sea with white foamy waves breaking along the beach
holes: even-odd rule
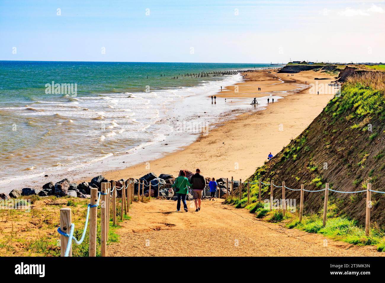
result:
[[[0,184],[20,176],[69,171],[144,145],[155,146],[166,139],[176,121],[191,121],[199,112],[186,106],[186,99],[196,96],[206,103],[220,86],[241,81],[239,74],[184,77],[185,73],[266,67],[0,61]],[[60,87],[57,93],[47,93],[46,84],[52,82],[72,84],[73,89],[76,84],[76,94],[66,94]],[[212,108],[205,121],[215,122],[233,109]]]

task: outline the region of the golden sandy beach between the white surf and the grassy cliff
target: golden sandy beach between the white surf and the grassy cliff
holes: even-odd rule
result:
[[[270,99],[263,111],[241,114],[236,119],[216,125],[208,135],[201,135],[180,151],[152,161],[148,156],[142,156],[141,164],[105,172],[105,178],[139,178],[148,172],[177,175],[180,169],[195,171],[196,168],[200,168],[205,177],[248,178],[267,160],[269,152],[275,155],[290,139],[301,134],[333,97],[333,94],[320,92],[317,95],[310,91],[311,84],[317,81],[327,85],[335,80],[321,72],[305,71],[292,76],[275,70],[260,70],[243,75],[243,82],[219,90],[217,99],[226,98],[226,103],[232,103],[232,98],[246,97],[251,103],[253,97],[258,101],[259,97],[271,93],[284,98],[275,103]]]

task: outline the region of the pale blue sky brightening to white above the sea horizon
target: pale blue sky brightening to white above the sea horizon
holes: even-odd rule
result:
[[[384,62],[384,27],[384,1],[0,0],[0,60]]]

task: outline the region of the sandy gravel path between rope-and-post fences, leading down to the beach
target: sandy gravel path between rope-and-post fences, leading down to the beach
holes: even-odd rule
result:
[[[383,256],[372,246],[358,247],[285,229],[257,220],[245,209],[203,201],[202,209],[175,212],[175,201],[134,203],[132,219],[117,230],[109,256]]]

